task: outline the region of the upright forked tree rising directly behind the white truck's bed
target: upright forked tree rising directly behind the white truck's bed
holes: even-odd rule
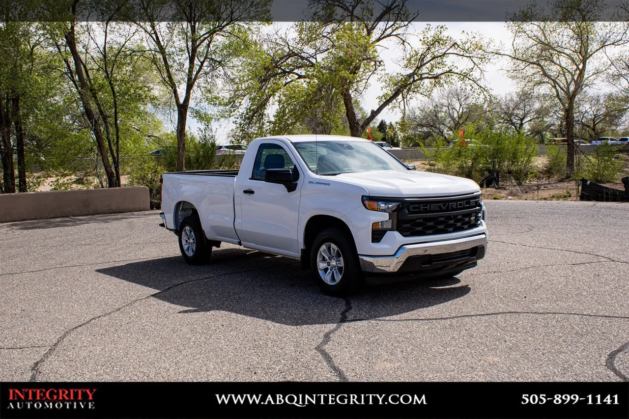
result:
[[[139,0],[142,28],[151,48],[150,60],[177,112],[177,170],[185,170],[186,123],[196,86],[211,87],[227,76],[247,45],[247,21],[265,16],[270,3],[186,0]],[[173,21],[162,21],[170,11]]]

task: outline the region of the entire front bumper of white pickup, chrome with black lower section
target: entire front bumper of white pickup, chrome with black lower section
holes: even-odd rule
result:
[[[392,256],[359,255],[363,272],[447,272],[476,265],[487,252],[485,233],[470,237],[401,246]]]

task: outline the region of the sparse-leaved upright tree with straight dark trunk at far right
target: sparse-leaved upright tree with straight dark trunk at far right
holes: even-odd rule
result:
[[[513,42],[507,52],[510,75],[525,88],[554,94],[563,113],[568,139],[567,175],[574,173],[574,111],[582,93],[611,69],[610,47],[629,42],[629,23],[598,22],[608,4],[602,0],[554,0],[547,9],[531,2],[511,16]]]

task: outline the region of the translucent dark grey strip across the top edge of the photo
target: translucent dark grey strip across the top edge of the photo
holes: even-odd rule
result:
[[[346,3],[351,7],[342,8]],[[0,16],[5,21],[186,21],[193,11],[199,21],[292,22],[326,21],[335,14],[344,21],[370,21],[381,13],[403,11],[409,20],[421,22],[504,22],[527,20],[528,14],[518,17],[518,12],[533,8],[537,11],[535,20],[565,20],[567,17],[554,8],[555,3],[555,0],[4,0],[0,1]],[[596,3],[598,13],[579,15],[580,18],[626,21],[625,0]],[[194,4],[192,9],[191,4]],[[584,4],[585,8],[591,6]],[[345,13],[347,9],[353,9],[352,16]]]

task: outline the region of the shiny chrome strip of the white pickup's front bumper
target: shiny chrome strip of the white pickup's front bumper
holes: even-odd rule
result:
[[[386,273],[398,272],[409,257],[423,255],[438,255],[452,252],[462,252],[482,247],[482,256],[487,250],[487,235],[482,233],[470,237],[443,240],[440,242],[417,243],[401,246],[392,256],[364,256],[359,255],[360,267],[363,272]],[[481,259],[479,257],[478,259]]]

